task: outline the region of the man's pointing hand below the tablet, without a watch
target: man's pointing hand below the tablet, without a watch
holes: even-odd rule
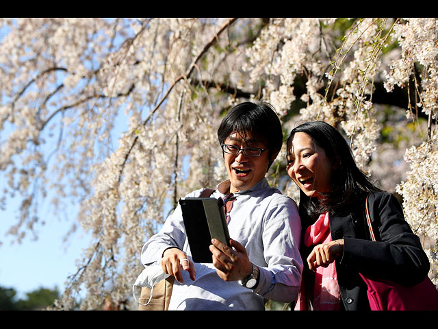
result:
[[[175,279],[180,283],[184,282],[181,269],[189,272],[192,281],[196,278],[196,270],[194,269],[192,260],[178,248],[166,249],[163,253],[161,265],[164,273],[175,276]]]

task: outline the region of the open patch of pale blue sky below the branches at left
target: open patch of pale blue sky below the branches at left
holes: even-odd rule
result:
[[[70,219],[46,215],[46,225],[37,226],[37,241],[28,234],[21,244],[11,244],[16,240],[5,236],[5,232],[16,223],[16,204],[7,206],[7,210],[0,210],[0,241],[3,243],[0,246],[0,286],[14,288],[18,298],[25,298],[25,293],[40,287],[57,287],[62,293],[66,278],[75,273],[75,262],[89,242],[87,234],[79,229],[67,242],[63,242],[75,215]]]

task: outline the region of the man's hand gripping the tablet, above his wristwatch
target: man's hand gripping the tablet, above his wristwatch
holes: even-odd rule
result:
[[[230,239],[231,247],[216,239],[211,240],[211,243],[210,251],[213,254],[213,265],[222,280],[242,280],[253,271],[253,265],[249,261],[245,247],[237,241]]]

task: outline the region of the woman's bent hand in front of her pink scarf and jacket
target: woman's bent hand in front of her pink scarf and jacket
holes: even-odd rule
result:
[[[315,245],[312,252],[307,257],[309,269],[316,271],[317,267],[327,267],[344,252],[344,239],[330,241]]]

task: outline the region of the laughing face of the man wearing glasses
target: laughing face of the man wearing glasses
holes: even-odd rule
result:
[[[266,149],[268,143],[246,136],[246,141],[238,132],[233,132],[224,141],[224,144],[233,145],[243,149],[244,147],[259,147]],[[245,191],[253,187],[259,180],[265,177],[269,164],[269,152],[261,152],[260,156],[247,156],[244,151],[238,154],[224,153],[225,167],[231,181],[230,193]]]

